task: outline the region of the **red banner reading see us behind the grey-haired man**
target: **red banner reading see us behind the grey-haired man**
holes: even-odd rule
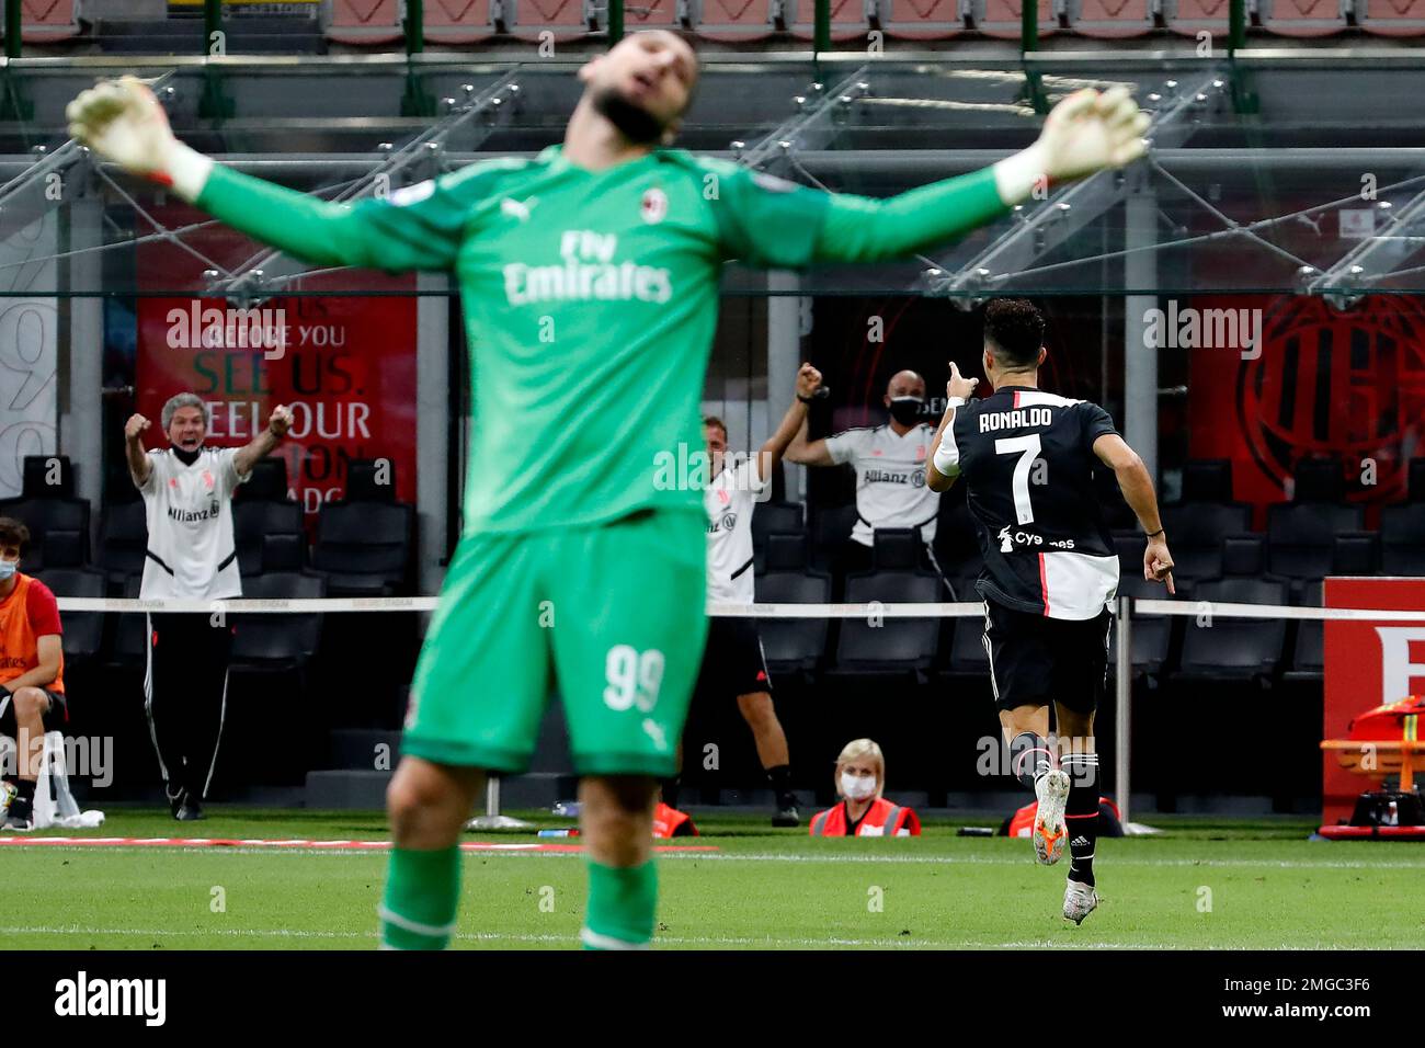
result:
[[[202,215],[181,205],[155,212],[170,228]],[[211,225],[138,248],[145,287],[162,291],[201,284],[207,260],[241,269],[259,248],[235,231]],[[201,252],[201,258],[194,252]],[[304,277],[302,288],[349,287],[351,271]],[[396,499],[416,492],[416,298],[415,278],[362,272],[370,297],[282,297],[242,309],[222,298],[140,298],[138,411],[154,423],[148,446],[165,446],[164,402],[194,392],[212,411],[208,443],[237,446],[261,433],[272,409],[292,409],[286,459],[288,493],[308,519],[346,492],[352,459],[389,459]],[[395,292],[395,294],[393,294]],[[405,294],[402,294],[405,292]]]

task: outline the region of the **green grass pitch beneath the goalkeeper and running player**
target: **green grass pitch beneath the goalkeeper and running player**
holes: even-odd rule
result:
[[[1027,841],[956,837],[963,821],[928,820],[912,840],[811,840],[764,817],[707,816],[690,843],[718,851],[660,860],[657,944],[1310,950],[1425,941],[1425,914],[1406,903],[1425,875],[1418,844],[1308,841],[1312,826],[1302,820],[1150,820],[1161,836],[1100,841],[1102,904],[1076,928],[1059,914],[1067,860],[1042,868]],[[198,824],[130,808],[110,811],[100,830],[46,833],[386,838],[380,813],[222,806]],[[0,947],[373,948],[385,865],[380,851],[0,847]],[[583,895],[577,856],[466,853],[455,945],[573,948]]]

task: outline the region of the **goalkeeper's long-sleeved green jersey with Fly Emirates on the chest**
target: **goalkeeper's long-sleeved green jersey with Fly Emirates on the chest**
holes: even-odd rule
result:
[[[1003,210],[988,168],[872,200],[681,150],[589,171],[559,145],[355,205],[215,165],[197,202],[316,265],[456,274],[475,415],[467,535],[701,512],[688,466],[722,262],[898,258]]]

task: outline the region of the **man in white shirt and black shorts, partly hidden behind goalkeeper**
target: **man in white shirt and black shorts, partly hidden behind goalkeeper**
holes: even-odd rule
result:
[[[718,418],[703,419],[712,478],[703,489],[708,512],[708,602],[750,605],[752,586],[752,509],[771,483],[772,471],[782,461],[787,445],[807,419],[807,405],[821,386],[821,372],[804,364],[797,372],[797,399],[787,409],[777,432],[757,455],[730,456],[727,426]],[[752,729],[757,757],[777,794],[772,826],[798,826],[801,814],[791,787],[791,757],[787,733],[772,706],[772,679],[762,654],[762,639],[755,619],[714,617],[708,620],[703,669],[693,693],[700,699],[727,702],[737,696],[737,709]],[[681,754],[681,747],[678,750]],[[664,803],[677,807],[677,780],[663,786]]]

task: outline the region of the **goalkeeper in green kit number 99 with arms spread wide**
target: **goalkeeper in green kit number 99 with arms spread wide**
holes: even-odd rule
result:
[[[382,944],[445,947],[457,840],[486,773],[523,771],[551,690],[581,776],[583,942],[647,947],[658,780],[674,773],[707,632],[698,401],[722,262],[872,262],[945,244],[1036,184],[1144,150],[1129,93],[1064,98],[993,167],[888,200],[784,183],[670,148],[693,48],[636,33],[584,64],[563,145],[355,205],[238,174],[181,144],[150,90],[84,91],[70,133],[315,265],[456,274],[475,429],[465,522],[412,682],[388,791]]]

